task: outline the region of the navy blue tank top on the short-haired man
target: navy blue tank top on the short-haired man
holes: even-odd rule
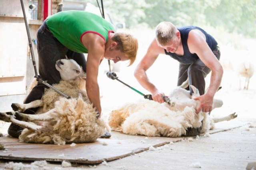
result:
[[[185,26],[185,27],[178,27],[177,28],[180,31],[180,37],[182,41],[183,51],[184,54],[182,56],[178,56],[175,53],[167,52],[166,49],[164,49],[164,52],[166,55],[170,55],[175,60],[178,60],[180,63],[184,64],[192,64],[194,63],[199,57],[196,55],[196,53],[192,54],[188,50],[188,33],[192,29],[199,29],[204,33],[206,37],[206,43],[209,45],[210,49],[213,51],[216,45],[218,45],[217,41],[212,37],[212,35],[206,33],[202,28],[195,27],[195,26]]]

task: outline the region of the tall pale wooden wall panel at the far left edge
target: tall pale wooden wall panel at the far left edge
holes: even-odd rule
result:
[[[26,75],[28,37],[23,18],[0,17],[0,77]]]

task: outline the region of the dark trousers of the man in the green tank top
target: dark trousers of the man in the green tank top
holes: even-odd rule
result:
[[[37,31],[37,51],[39,75],[42,80],[47,80],[47,83],[50,85],[60,82],[60,73],[55,68],[56,61],[59,59],[66,59],[66,57],[68,59],[74,59],[86,72],[86,59],[84,54],[71,51],[62,45],[52,35],[45,21]],[[34,100],[40,100],[44,94],[45,88],[48,87],[38,82],[24,100],[24,104]],[[37,108],[32,108],[26,110],[24,113],[33,114],[36,110]]]

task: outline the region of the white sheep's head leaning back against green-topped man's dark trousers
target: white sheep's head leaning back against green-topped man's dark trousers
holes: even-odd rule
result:
[[[82,67],[73,59],[60,59],[56,61],[55,68],[60,72],[62,80],[74,80],[77,77],[86,78]]]

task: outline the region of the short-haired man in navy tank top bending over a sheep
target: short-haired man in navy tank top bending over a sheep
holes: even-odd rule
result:
[[[212,111],[213,98],[218,90],[223,68],[219,62],[220,50],[217,41],[206,31],[196,26],[176,27],[171,22],[161,22],[156,26],[156,37],[134,71],[138,82],[152,93],[154,101],[163,103],[166,96],[150,82],[146,70],[152,66],[159,54],[166,54],[179,62],[178,86],[188,78],[189,85],[198,88],[200,110]],[[205,77],[211,72],[210,86],[205,92]],[[168,76],[168,75],[166,75]],[[190,86],[188,87],[189,90]],[[190,89],[192,93],[192,90]]]

